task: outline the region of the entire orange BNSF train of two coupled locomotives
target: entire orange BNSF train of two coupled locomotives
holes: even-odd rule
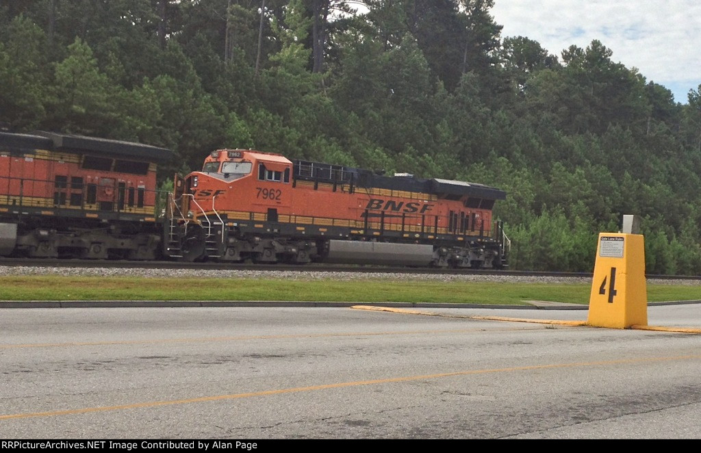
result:
[[[0,255],[503,269],[505,193],[220,149],[156,191],[166,149],[0,133]]]

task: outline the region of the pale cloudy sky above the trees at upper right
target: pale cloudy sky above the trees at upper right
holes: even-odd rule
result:
[[[494,0],[501,38],[524,36],[562,61],[571,45],[587,48],[598,39],[611,61],[637,68],[647,82],[688,103],[701,85],[699,0]]]

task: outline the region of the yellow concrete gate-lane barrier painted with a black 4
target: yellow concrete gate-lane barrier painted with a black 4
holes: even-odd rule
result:
[[[599,233],[587,324],[648,325],[645,245],[641,234]]]

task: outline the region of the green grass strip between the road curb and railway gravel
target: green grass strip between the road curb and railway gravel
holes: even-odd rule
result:
[[[649,285],[648,302],[701,299],[699,285]],[[588,304],[588,284],[259,278],[0,277],[2,300],[206,300]],[[1,303],[1,302],[0,302]]]

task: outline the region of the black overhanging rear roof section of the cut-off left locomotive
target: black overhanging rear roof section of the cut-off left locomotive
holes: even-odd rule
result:
[[[50,140],[53,144],[53,147],[50,149],[56,151],[104,153],[158,162],[170,161],[173,158],[173,152],[170,149],[153,147],[149,144],[44,131],[36,131],[34,134]]]

